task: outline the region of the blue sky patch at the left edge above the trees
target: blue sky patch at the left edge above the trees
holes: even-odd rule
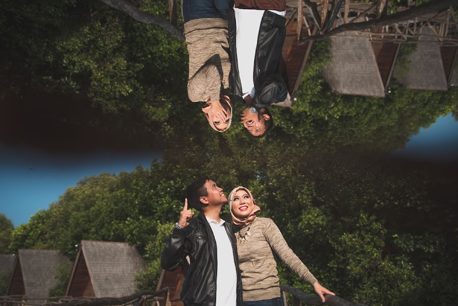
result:
[[[138,164],[148,168],[160,154],[153,151],[93,151],[61,156],[28,147],[0,143],[0,213],[14,226],[27,223],[39,209],[57,201],[85,176],[103,171],[132,171]]]

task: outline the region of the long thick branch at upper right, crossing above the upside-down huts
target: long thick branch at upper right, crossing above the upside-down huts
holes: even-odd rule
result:
[[[456,0],[438,0],[434,2],[428,2],[417,7],[413,7],[411,9],[407,9],[387,16],[382,16],[378,19],[372,19],[368,21],[355,23],[345,23],[329,31],[326,34],[303,37],[301,39],[300,44],[308,40],[325,40],[333,35],[346,31],[363,31],[367,29],[383,27],[384,25],[388,24],[399,23],[410,19],[415,19],[415,17],[418,16],[447,10],[451,6],[457,6]]]

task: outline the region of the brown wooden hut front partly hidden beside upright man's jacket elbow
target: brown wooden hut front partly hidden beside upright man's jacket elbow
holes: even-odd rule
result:
[[[183,302],[180,299],[181,287],[183,286],[184,275],[187,272],[188,263],[185,262],[184,265],[178,267],[174,271],[162,270],[159,277],[159,282],[157,283],[156,290],[161,288],[169,287],[169,300],[171,302],[170,306],[182,306]],[[164,301],[159,301],[160,305],[164,305]],[[169,305],[167,305],[169,306]]]

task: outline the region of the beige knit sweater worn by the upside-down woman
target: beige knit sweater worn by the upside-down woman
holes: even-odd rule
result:
[[[221,86],[229,87],[227,20],[200,18],[184,23],[189,54],[187,95],[193,102],[220,99]]]

